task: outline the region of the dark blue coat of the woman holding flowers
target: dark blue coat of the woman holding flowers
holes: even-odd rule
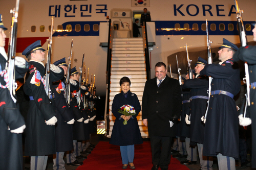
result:
[[[127,93],[127,98],[125,98],[123,93],[119,93],[115,95],[113,100],[112,113],[116,117],[116,120],[113,126],[110,144],[126,146],[143,143],[136,118],[141,110],[140,102],[135,93],[132,93],[130,90]],[[123,105],[131,105],[136,111],[136,115],[127,121],[127,125],[123,125],[123,118],[119,119],[122,114],[118,113],[118,109]]]

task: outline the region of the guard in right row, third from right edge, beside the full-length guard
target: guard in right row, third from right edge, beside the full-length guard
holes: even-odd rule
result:
[[[204,116],[208,94],[207,89],[209,85],[209,79],[207,76],[200,74],[200,71],[207,65],[207,61],[201,57],[198,57],[198,61],[195,64],[196,79],[188,79],[184,82],[183,88],[190,88],[190,121],[189,115],[186,115],[186,123],[190,124],[190,144],[197,143],[200,166],[201,169],[212,169],[212,158],[203,156],[203,148],[205,149],[204,141],[204,124],[201,122],[201,117]],[[193,144],[192,144],[193,145]]]

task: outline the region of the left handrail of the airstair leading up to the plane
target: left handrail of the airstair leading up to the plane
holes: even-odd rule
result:
[[[109,135],[110,131],[110,76],[111,76],[111,60],[112,60],[112,22],[109,19],[109,36],[108,36],[108,57],[106,60],[106,86],[108,89],[106,96],[106,109],[105,109],[105,120],[106,120],[106,135]]]

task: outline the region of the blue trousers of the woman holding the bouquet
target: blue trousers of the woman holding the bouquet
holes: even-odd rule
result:
[[[134,144],[127,146],[120,146],[123,164],[132,163],[134,159]]]

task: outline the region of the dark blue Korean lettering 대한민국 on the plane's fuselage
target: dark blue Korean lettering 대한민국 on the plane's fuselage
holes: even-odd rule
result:
[[[95,14],[102,13],[106,16],[106,12],[108,11],[106,4],[98,4],[94,5],[95,10],[93,10]],[[49,6],[49,16],[54,16],[55,18],[60,17],[60,11],[64,10],[63,17],[91,17],[92,16],[92,4],[89,5],[50,5]],[[62,12],[61,12],[62,15]]]

